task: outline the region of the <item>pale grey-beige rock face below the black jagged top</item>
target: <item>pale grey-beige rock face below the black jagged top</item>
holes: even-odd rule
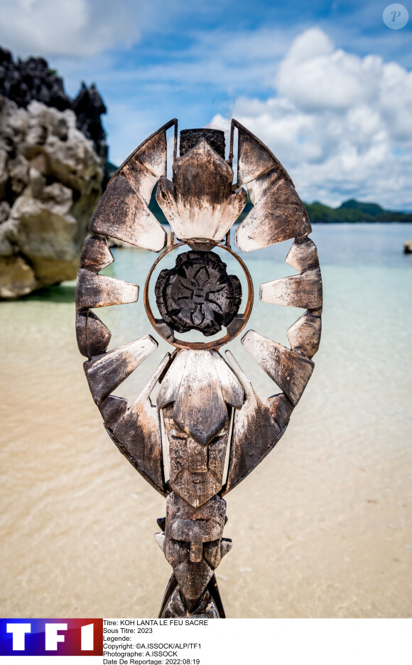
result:
[[[0,97],[0,297],[75,279],[102,176],[75,112]]]

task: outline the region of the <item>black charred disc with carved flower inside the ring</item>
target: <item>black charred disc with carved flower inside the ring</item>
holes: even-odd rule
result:
[[[183,252],[175,267],[162,270],[155,287],[164,321],[180,333],[200,330],[214,335],[236,316],[242,286],[227,275],[226,264],[214,252]]]

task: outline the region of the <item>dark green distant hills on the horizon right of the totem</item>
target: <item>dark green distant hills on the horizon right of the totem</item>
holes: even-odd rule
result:
[[[339,208],[329,208],[319,201],[305,203],[305,208],[313,223],[412,222],[412,213],[384,210],[377,203],[362,203],[354,198],[345,201]]]

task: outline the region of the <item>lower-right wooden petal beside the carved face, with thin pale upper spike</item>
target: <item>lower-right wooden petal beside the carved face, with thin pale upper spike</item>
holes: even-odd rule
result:
[[[234,412],[227,483],[222,495],[227,494],[253,471],[284,432],[284,427],[278,425],[270,410],[259,400],[232,353],[226,351],[226,356],[244,386],[246,400],[242,408]]]

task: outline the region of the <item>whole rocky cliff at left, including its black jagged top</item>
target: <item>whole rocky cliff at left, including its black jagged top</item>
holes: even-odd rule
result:
[[[75,279],[110,176],[105,112],[94,85],[70,100],[43,58],[0,48],[0,298]]]

